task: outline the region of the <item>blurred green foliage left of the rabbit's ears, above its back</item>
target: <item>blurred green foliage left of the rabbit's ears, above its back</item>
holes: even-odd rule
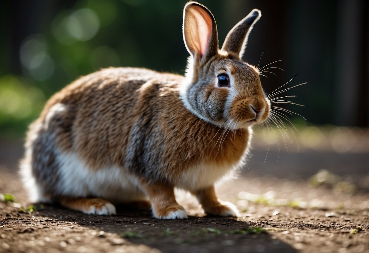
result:
[[[186,1],[71,2],[69,7],[58,7],[56,1],[39,13],[25,11],[37,29],[21,40],[19,48],[13,48],[19,55],[14,61],[19,62],[20,72],[14,65],[12,69],[4,64],[0,69],[1,136],[24,135],[52,94],[78,76],[103,67],[184,73],[187,51],[182,39],[182,8]],[[36,16],[38,19],[32,19]],[[22,27],[11,32],[18,29]],[[11,58],[11,39],[0,43]]]

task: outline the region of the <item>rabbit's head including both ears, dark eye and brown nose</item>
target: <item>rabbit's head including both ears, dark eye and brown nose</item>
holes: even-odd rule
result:
[[[256,67],[242,61],[249,32],[261,17],[252,10],[218,46],[213,14],[189,2],[183,11],[183,38],[190,57],[180,97],[187,109],[213,124],[238,129],[263,122],[270,105]]]

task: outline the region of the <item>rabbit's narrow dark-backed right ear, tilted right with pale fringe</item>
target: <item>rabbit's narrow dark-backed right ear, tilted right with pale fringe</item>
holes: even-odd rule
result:
[[[222,49],[239,55],[241,59],[246,49],[247,39],[252,26],[261,17],[261,12],[252,10],[244,19],[239,21],[225,37]]]

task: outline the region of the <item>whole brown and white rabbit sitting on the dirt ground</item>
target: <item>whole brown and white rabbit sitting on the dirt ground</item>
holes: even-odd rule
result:
[[[188,218],[174,188],[193,194],[206,214],[238,216],[214,184],[240,169],[252,125],[269,115],[258,69],[242,61],[254,9],[219,49],[213,14],[190,1],[183,38],[184,76],[110,67],[80,77],[46,103],[30,125],[21,160],[34,202],[114,215],[115,203],[151,208],[155,218]]]

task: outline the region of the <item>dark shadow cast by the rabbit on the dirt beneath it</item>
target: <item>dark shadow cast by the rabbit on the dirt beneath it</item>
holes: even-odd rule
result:
[[[57,219],[58,223],[78,224],[94,240],[108,240],[111,246],[145,245],[161,252],[186,253],[297,252],[291,245],[272,238],[268,231],[258,230],[260,222],[233,218],[189,216],[185,220],[161,220],[152,218],[151,211],[123,205],[117,207],[116,216],[110,217],[85,215],[55,206],[46,206],[39,215]],[[74,228],[75,225],[68,226],[65,232]]]

